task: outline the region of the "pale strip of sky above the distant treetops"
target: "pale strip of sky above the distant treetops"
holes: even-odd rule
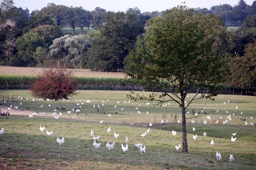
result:
[[[79,7],[82,6],[85,10],[92,11],[95,7],[101,7],[106,11],[123,11],[129,8],[138,7],[140,12],[165,11],[174,6],[181,5],[181,2],[186,2],[185,5],[191,8],[207,8],[211,6],[229,4],[235,6],[239,0],[14,0],[16,7],[28,8],[30,12],[41,10],[48,3],[56,5],[65,5]],[[248,5],[252,5],[254,0],[244,0]]]

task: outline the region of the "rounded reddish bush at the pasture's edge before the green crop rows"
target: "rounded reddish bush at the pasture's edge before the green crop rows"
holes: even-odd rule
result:
[[[45,68],[31,84],[30,91],[38,98],[67,99],[68,96],[76,94],[76,85],[72,71],[65,68]]]

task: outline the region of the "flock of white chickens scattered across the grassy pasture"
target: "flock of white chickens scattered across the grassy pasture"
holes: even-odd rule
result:
[[[28,99],[27,99],[27,100],[28,100]],[[32,99],[32,100],[35,101],[34,99]],[[43,100],[43,99],[38,99],[38,100]],[[109,100],[109,99],[108,99],[108,100]],[[47,99],[47,101],[49,101],[49,100]],[[68,101],[69,101],[69,100],[68,100]],[[77,101],[77,100],[76,100],[76,101]],[[79,101],[81,102],[81,100],[79,100]],[[78,102],[78,101],[77,101],[77,102]],[[86,102],[91,102],[91,101],[90,101],[90,100],[87,100]],[[117,103],[120,103],[120,102],[118,101]],[[126,101],[124,101],[124,103],[126,103]],[[130,101],[129,101],[129,103],[130,103]],[[224,104],[227,104],[227,103],[229,103],[229,101],[228,101],[228,102],[224,102]],[[67,111],[67,113],[71,113],[71,112],[76,112],[76,113],[78,113],[78,112],[80,112],[80,108],[81,108],[80,104],[81,104],[81,105],[84,105],[84,103],[77,103],[77,106],[79,106],[79,109],[73,109],[72,111]],[[147,103],[147,105],[149,105],[149,104],[150,104],[150,103]],[[22,103],[20,103],[20,105],[22,105]],[[103,105],[104,105],[104,101],[102,101],[102,106],[103,106]],[[44,106],[44,105],[42,105],[41,107],[43,107],[43,106]],[[49,104],[48,106],[51,107],[50,104]],[[140,106],[140,105],[139,105],[139,106]],[[164,106],[167,106],[167,104],[165,104]],[[96,106],[93,105],[93,107],[95,108]],[[99,107],[100,107],[100,106],[97,105],[97,110],[98,110],[98,111],[99,111],[99,109],[98,109]],[[116,107],[117,107],[117,106],[115,105],[114,108],[116,108]],[[238,106],[236,106],[235,108],[238,109]],[[10,110],[11,108],[8,108],[8,109]],[[124,109],[124,108],[121,108],[121,111],[122,111],[123,109]],[[136,107],[136,109],[138,110],[138,107]],[[204,110],[205,110],[205,108],[203,108],[201,112],[203,112]],[[138,112],[138,114],[141,114],[140,111],[137,111],[137,112]],[[220,110],[217,110],[216,112],[220,112]],[[189,112],[187,112],[187,113],[189,113]],[[226,113],[228,114],[228,111],[226,111]],[[34,114],[36,114],[36,113],[29,114],[29,118],[31,119]],[[59,114],[59,115],[56,115],[56,114]],[[104,113],[104,114],[105,114],[105,113]],[[148,111],[147,111],[147,114],[148,114]],[[243,114],[243,113],[241,112],[241,115],[242,115],[242,114]],[[62,113],[61,113],[61,112],[57,112],[57,109],[55,109],[55,110],[54,110],[54,113],[53,113],[52,115],[54,115],[55,119],[58,119],[59,116],[62,116]],[[198,113],[195,113],[195,117],[196,117],[197,115],[198,115]],[[108,116],[111,117],[111,114],[108,114]],[[235,116],[235,114],[233,114],[233,116]],[[209,120],[211,120],[211,117],[210,117],[210,116],[207,116],[206,118],[209,119]],[[223,118],[220,117],[220,119],[222,120]],[[253,117],[251,117],[251,119],[253,119]],[[231,115],[227,116],[227,119],[223,121],[223,125],[227,124],[227,123],[228,123],[229,121],[231,121],[231,120],[232,120]],[[166,120],[166,123],[168,123],[168,122],[169,122],[169,121],[168,121],[168,119],[167,119],[167,120]],[[195,122],[196,122],[196,120],[191,120],[191,123],[192,123],[192,124],[194,124]],[[161,120],[161,124],[163,124],[163,123],[164,123],[164,120],[162,119],[162,120]],[[177,123],[181,123],[181,121],[178,120]],[[215,121],[215,124],[217,124],[217,123],[219,124],[219,120],[216,120],[216,121]],[[247,125],[247,123],[248,123],[248,122],[245,122],[245,125]],[[103,124],[103,120],[100,121],[100,124]],[[204,121],[204,124],[207,124],[207,120]],[[253,125],[253,124],[254,124],[254,123],[251,123],[251,125]],[[149,123],[149,126],[151,127],[152,125],[153,125],[153,124],[150,122],[150,123]],[[111,132],[111,129],[110,129],[110,128],[111,128],[110,126],[109,126],[109,128],[107,128],[107,133],[108,133],[108,134],[110,134],[110,132]],[[45,127],[44,127],[44,126],[42,127],[42,125],[41,125],[41,126],[40,126],[40,131],[43,132],[44,130],[45,130]],[[195,130],[196,130],[196,128],[193,127],[193,131],[194,131],[194,132],[195,132]],[[150,131],[150,128],[149,128],[145,133],[141,134],[140,136],[146,137],[146,135],[149,133],[149,131]],[[4,133],[4,128],[2,128],[2,130],[0,131],[0,136],[1,136],[3,133]],[[53,133],[53,131],[49,132],[48,130],[46,130],[46,133],[47,133],[48,136],[51,136],[52,133]],[[177,135],[177,132],[174,131],[174,130],[172,130],[172,134],[173,134],[174,136],[176,136],[176,135]],[[234,134],[232,134],[232,135],[233,135],[233,136],[236,136],[236,134],[237,134],[237,133],[234,133]],[[98,135],[97,137],[95,137],[95,136],[94,136],[94,131],[93,131],[93,129],[91,130],[90,135],[91,135],[91,137],[93,138],[93,143],[92,143],[93,147],[94,147],[95,149],[99,149],[99,147],[101,146],[101,143],[97,143],[97,141],[99,141],[100,136]],[[115,136],[115,138],[117,139],[117,138],[119,137],[119,134],[116,134],[116,133],[114,132],[114,136]],[[233,136],[231,136],[231,141],[232,141],[232,142],[235,142],[237,138],[236,138],[236,137],[233,138]],[[207,137],[206,132],[204,132],[204,137]],[[195,141],[197,140],[197,134],[195,134],[195,136],[193,135],[193,139],[194,139]],[[57,137],[56,141],[57,141],[57,143],[59,144],[59,146],[61,146],[61,145],[64,143],[65,140],[64,140],[64,137],[62,137],[62,139],[59,139],[59,137]],[[121,144],[121,149],[123,150],[124,153],[126,153],[126,152],[129,150],[128,142],[129,142],[129,138],[126,136],[126,139],[125,139],[126,145],[123,146],[123,144]],[[210,145],[211,145],[211,146],[214,145],[213,139],[211,140]],[[137,149],[140,150],[140,153],[141,153],[142,155],[146,155],[146,146],[144,145],[143,148],[142,148],[142,146],[143,146],[143,143],[138,143],[138,144],[135,144],[135,145],[134,145],[135,148],[137,148]],[[115,142],[112,142],[111,145],[109,144],[108,141],[106,142],[106,148],[107,148],[108,151],[113,150],[114,147],[115,147]],[[179,143],[179,146],[175,145],[175,148],[176,148],[177,151],[179,151],[179,150],[181,149],[181,143]],[[216,158],[217,158],[217,160],[221,160],[222,157],[221,157],[220,152],[218,152],[218,151],[215,151],[215,152],[216,152]],[[234,154],[230,154],[230,158],[229,158],[229,159],[230,159],[230,162],[234,162],[234,157],[233,157],[233,155],[234,155]]]

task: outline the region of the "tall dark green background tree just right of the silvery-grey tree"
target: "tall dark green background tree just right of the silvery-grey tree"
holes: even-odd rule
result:
[[[142,18],[137,9],[107,14],[99,26],[101,35],[91,40],[87,68],[108,72],[122,70],[127,48],[132,48],[137,35],[144,32]]]

